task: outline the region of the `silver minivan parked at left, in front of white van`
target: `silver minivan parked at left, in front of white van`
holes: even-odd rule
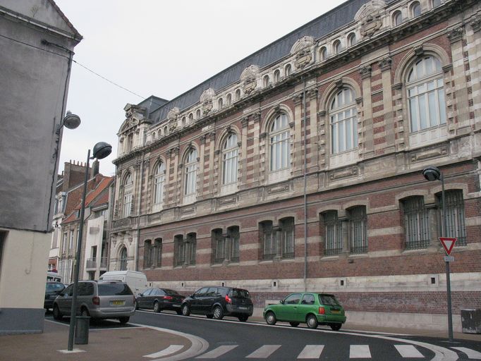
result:
[[[54,319],[70,316],[73,283],[54,300]],[[135,296],[127,283],[119,281],[79,281],[77,314],[92,319],[118,319],[126,324],[135,312]]]

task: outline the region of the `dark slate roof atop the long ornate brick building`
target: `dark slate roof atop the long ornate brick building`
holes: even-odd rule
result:
[[[171,101],[163,104],[163,102],[154,100],[154,104],[158,102],[157,104],[160,105],[160,107],[152,111],[154,107],[152,106],[153,104],[150,104],[150,107],[147,108],[149,118],[152,119],[153,123],[158,123],[159,121],[164,120],[169,111],[174,107],[178,107],[178,109],[181,109],[182,111],[188,106],[192,106],[199,102],[200,95],[202,92],[209,89],[209,87],[212,87],[212,89],[217,91],[233,82],[237,82],[241,73],[248,66],[257,65],[260,68],[264,68],[264,66],[279,61],[279,59],[282,59],[289,54],[293,44],[301,37],[312,36],[314,39],[326,37],[340,27],[351,23],[354,20],[355,13],[358,12],[361,6],[369,1],[370,0],[346,1],[336,8],[333,8],[331,11],[324,13],[322,16],[319,16],[318,18],[311,20],[309,23],[298,27],[298,29],[289,32],[287,35],[284,35],[284,37],[277,39],[275,42],[263,47],[245,59],[229,66],[229,68],[226,68],[224,71],[212,76],[212,78],[205,80],[205,82],[201,82],[196,87],[193,87]],[[385,1],[386,4],[391,4],[397,0]],[[152,97],[147,98],[146,100],[151,98]],[[142,101],[139,105],[145,106],[146,100]],[[164,101],[164,99],[162,99],[162,101]]]

